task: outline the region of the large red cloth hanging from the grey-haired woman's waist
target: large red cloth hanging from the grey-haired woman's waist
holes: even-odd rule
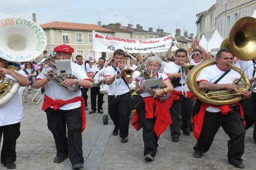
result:
[[[153,117],[156,117],[154,132],[159,138],[167,127],[172,124],[169,108],[166,107],[167,101],[159,102],[158,99],[153,97],[144,97],[143,101],[145,103],[146,119],[153,119]],[[136,130],[140,130],[140,116],[138,111],[134,113],[131,124]]]

